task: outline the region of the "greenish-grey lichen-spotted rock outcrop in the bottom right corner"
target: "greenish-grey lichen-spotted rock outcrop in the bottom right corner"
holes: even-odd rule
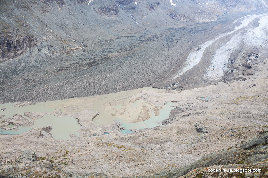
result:
[[[224,148],[218,152],[204,156],[194,163],[157,173],[155,176],[165,178],[195,178],[195,177],[251,177],[245,172],[228,172],[227,169],[262,169],[262,172],[252,172],[254,177],[266,177],[268,172],[268,129],[254,138],[250,138],[233,147]],[[225,169],[225,172],[208,172],[208,169]]]

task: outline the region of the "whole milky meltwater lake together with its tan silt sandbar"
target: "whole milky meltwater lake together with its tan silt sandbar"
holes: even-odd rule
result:
[[[161,126],[161,121],[168,118],[170,111],[175,107],[173,103],[154,105],[143,100],[136,100],[134,103],[131,103],[130,97],[142,90],[164,91],[163,89],[146,87],[91,97],[39,102],[34,105],[20,107],[14,107],[14,105],[18,103],[1,104],[0,109],[6,109],[4,111],[0,110],[0,116],[4,116],[1,119],[3,120],[6,118],[12,118],[14,114],[19,114],[24,118],[31,120],[31,118],[24,115],[25,112],[53,112],[55,109],[60,109],[63,113],[75,113],[85,109],[90,109],[96,110],[100,113],[94,118],[94,123],[106,125],[117,120],[125,127],[125,130],[122,130],[121,133],[129,134],[133,133],[133,130],[135,129],[153,128],[158,125]],[[142,112],[144,112],[141,115],[139,115],[142,113],[140,108],[143,108]],[[121,112],[122,110],[124,112]],[[142,118],[146,119],[142,120]],[[70,134],[80,135],[79,130],[81,129],[81,126],[78,124],[77,119],[73,117],[53,116],[50,114],[34,120],[34,124],[32,126],[18,126],[18,129],[14,130],[1,129],[0,133],[18,135],[33,128],[42,128],[46,126],[52,126],[53,129],[50,133],[55,139],[71,139],[69,136]],[[12,125],[9,125],[9,127],[12,127]]]

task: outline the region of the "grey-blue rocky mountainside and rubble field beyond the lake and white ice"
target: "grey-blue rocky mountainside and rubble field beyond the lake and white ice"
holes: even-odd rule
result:
[[[1,1],[0,102],[150,86],[219,26],[265,9],[259,0],[135,2]]]

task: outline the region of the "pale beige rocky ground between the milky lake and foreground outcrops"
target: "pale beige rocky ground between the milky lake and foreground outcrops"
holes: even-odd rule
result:
[[[244,80],[233,80],[228,85],[218,82],[217,85],[182,91],[146,89],[133,93],[130,98],[123,97],[122,100],[116,98],[115,101],[122,106],[125,104],[122,102],[124,100],[144,100],[153,105],[163,105],[168,102],[182,107],[172,110],[170,118],[162,122],[164,126],[138,130],[130,135],[122,134],[120,132],[122,127],[118,123],[97,125],[92,122],[97,112],[90,110],[91,101],[87,98],[57,101],[56,108],[61,108],[61,112],[56,109],[51,113],[25,113],[34,121],[45,114],[72,116],[77,118],[78,123],[82,125],[79,130],[81,134],[70,135],[70,140],[56,140],[51,134],[51,131],[55,129],[53,125],[52,128],[47,125],[20,135],[0,134],[1,148],[3,148],[0,150],[0,155],[2,155],[0,169],[13,167],[21,152],[32,149],[44,162],[49,164],[54,162],[54,166],[74,176],[76,173],[81,175],[99,172],[108,177],[141,177],[153,176],[161,171],[164,171],[162,175],[168,176],[167,170],[174,168],[179,173],[178,175],[187,174],[187,171],[191,171],[190,169],[181,174],[182,169],[177,168],[184,170],[186,165],[202,160],[204,155],[217,152],[222,148],[231,148],[252,136],[265,135],[266,137],[267,132],[262,134],[262,130],[267,129],[268,116],[267,60],[259,64],[260,71],[254,75],[241,76]],[[77,109],[68,109],[72,103],[77,104]],[[10,112],[16,111],[10,110]],[[103,135],[104,132],[109,132],[109,134]],[[247,144],[243,143],[243,145]],[[205,165],[193,164],[188,167],[194,169],[195,166],[219,166],[219,163],[214,164],[213,160],[219,159],[217,155],[224,158],[225,153],[236,155],[238,152],[241,159],[235,157],[230,162],[238,163],[236,162],[238,160],[239,164],[243,161],[244,163],[254,161],[251,153],[252,156],[256,154],[256,161],[258,157],[262,158],[262,155],[258,153],[266,154],[261,150],[263,145],[258,147],[257,152],[253,152],[253,148],[248,151],[248,148],[244,146],[237,145],[240,148],[233,147],[228,149],[228,152],[213,153],[212,156],[206,157],[212,160],[211,162],[203,159]],[[235,152],[232,152],[234,150]],[[245,155],[240,153],[245,153]],[[233,155],[229,157],[232,158]],[[214,156],[216,157],[213,158]],[[247,160],[248,157],[251,158]],[[228,157],[225,158],[222,164],[228,162]],[[262,164],[258,163],[259,166]],[[229,165],[231,164],[227,166]],[[262,172],[262,175],[263,173],[265,172]],[[9,174],[12,175],[12,171]]]

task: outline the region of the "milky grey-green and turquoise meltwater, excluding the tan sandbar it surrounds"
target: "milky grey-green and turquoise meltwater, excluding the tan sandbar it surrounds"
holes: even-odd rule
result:
[[[36,103],[34,105],[28,105],[28,106],[20,106],[20,107],[14,107],[13,105],[18,103],[9,103],[9,104],[1,104],[0,108],[6,108],[6,110],[2,111],[0,110],[0,116],[5,115],[1,120],[5,118],[11,118],[14,114],[20,114],[24,118],[28,118],[27,116],[24,116],[25,112],[53,112],[55,109],[61,109],[61,112],[63,113],[73,113],[73,112],[80,112],[84,109],[91,109],[96,110],[100,114],[94,118],[94,122],[96,124],[110,124],[113,122],[113,120],[117,120],[123,124],[123,126],[126,128],[125,131],[122,131],[122,133],[132,133],[133,131],[129,129],[143,129],[143,128],[153,128],[159,124],[160,121],[168,118],[168,115],[170,111],[174,108],[173,104],[165,104],[163,105],[163,108],[159,110],[159,116],[153,116],[146,121],[139,122],[139,123],[126,123],[124,119],[122,118],[116,118],[111,116],[111,114],[107,113],[103,108],[105,103],[113,100],[120,100],[125,98],[130,98],[136,93],[141,92],[142,90],[156,90],[156,91],[164,91],[163,89],[156,89],[151,87],[145,87],[145,88],[139,88],[134,90],[128,90],[124,92],[118,92],[118,93],[112,93],[112,94],[105,94],[105,95],[98,95],[98,96],[92,96],[92,97],[83,97],[83,98],[69,98],[66,100],[57,100],[57,101],[48,101],[48,102],[40,102]],[[133,104],[133,108],[135,108],[135,105],[139,105],[139,100],[137,100]],[[68,106],[67,108],[64,108],[63,106]],[[69,108],[74,108],[75,110],[71,110]],[[114,106],[115,108],[121,108],[121,105]],[[19,130],[3,130],[0,133],[2,134],[10,134],[10,135],[18,135],[24,132],[27,132],[33,128],[42,128],[46,126],[51,126],[53,129],[51,130],[51,134],[55,139],[70,139],[70,134],[79,135],[79,130],[81,126],[77,123],[77,119],[73,117],[60,117],[60,116],[53,116],[53,115],[46,115],[44,117],[41,117],[34,121],[34,125],[30,127],[18,127]],[[10,125],[11,126],[11,125]]]

